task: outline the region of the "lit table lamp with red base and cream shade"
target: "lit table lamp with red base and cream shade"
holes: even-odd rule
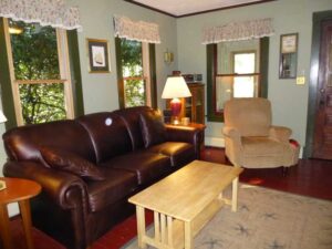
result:
[[[191,93],[183,76],[176,75],[167,77],[162,98],[172,98],[170,111],[173,124],[179,124],[178,116],[181,112],[181,101],[179,97],[188,96],[191,96]]]

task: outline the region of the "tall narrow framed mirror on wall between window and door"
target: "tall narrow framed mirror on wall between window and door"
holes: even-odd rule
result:
[[[280,35],[279,79],[295,79],[298,61],[298,33]]]

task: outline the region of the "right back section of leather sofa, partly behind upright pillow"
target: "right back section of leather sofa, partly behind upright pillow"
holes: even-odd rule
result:
[[[151,110],[152,108],[148,106],[137,106],[113,112],[114,114],[121,116],[121,118],[125,123],[133,143],[134,151],[144,147],[139,115]]]

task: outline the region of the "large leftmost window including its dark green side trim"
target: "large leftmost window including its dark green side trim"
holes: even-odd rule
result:
[[[0,18],[0,50],[7,128],[84,114],[76,30]]]

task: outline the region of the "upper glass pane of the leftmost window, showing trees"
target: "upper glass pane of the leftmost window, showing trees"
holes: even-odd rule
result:
[[[12,20],[9,27],[21,31],[10,35],[15,79],[60,79],[55,29]]]

